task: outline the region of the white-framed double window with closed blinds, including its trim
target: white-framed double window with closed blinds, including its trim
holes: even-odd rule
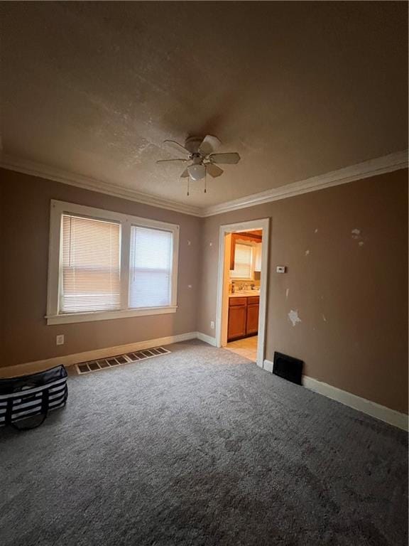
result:
[[[179,226],[51,202],[48,324],[174,313]]]

